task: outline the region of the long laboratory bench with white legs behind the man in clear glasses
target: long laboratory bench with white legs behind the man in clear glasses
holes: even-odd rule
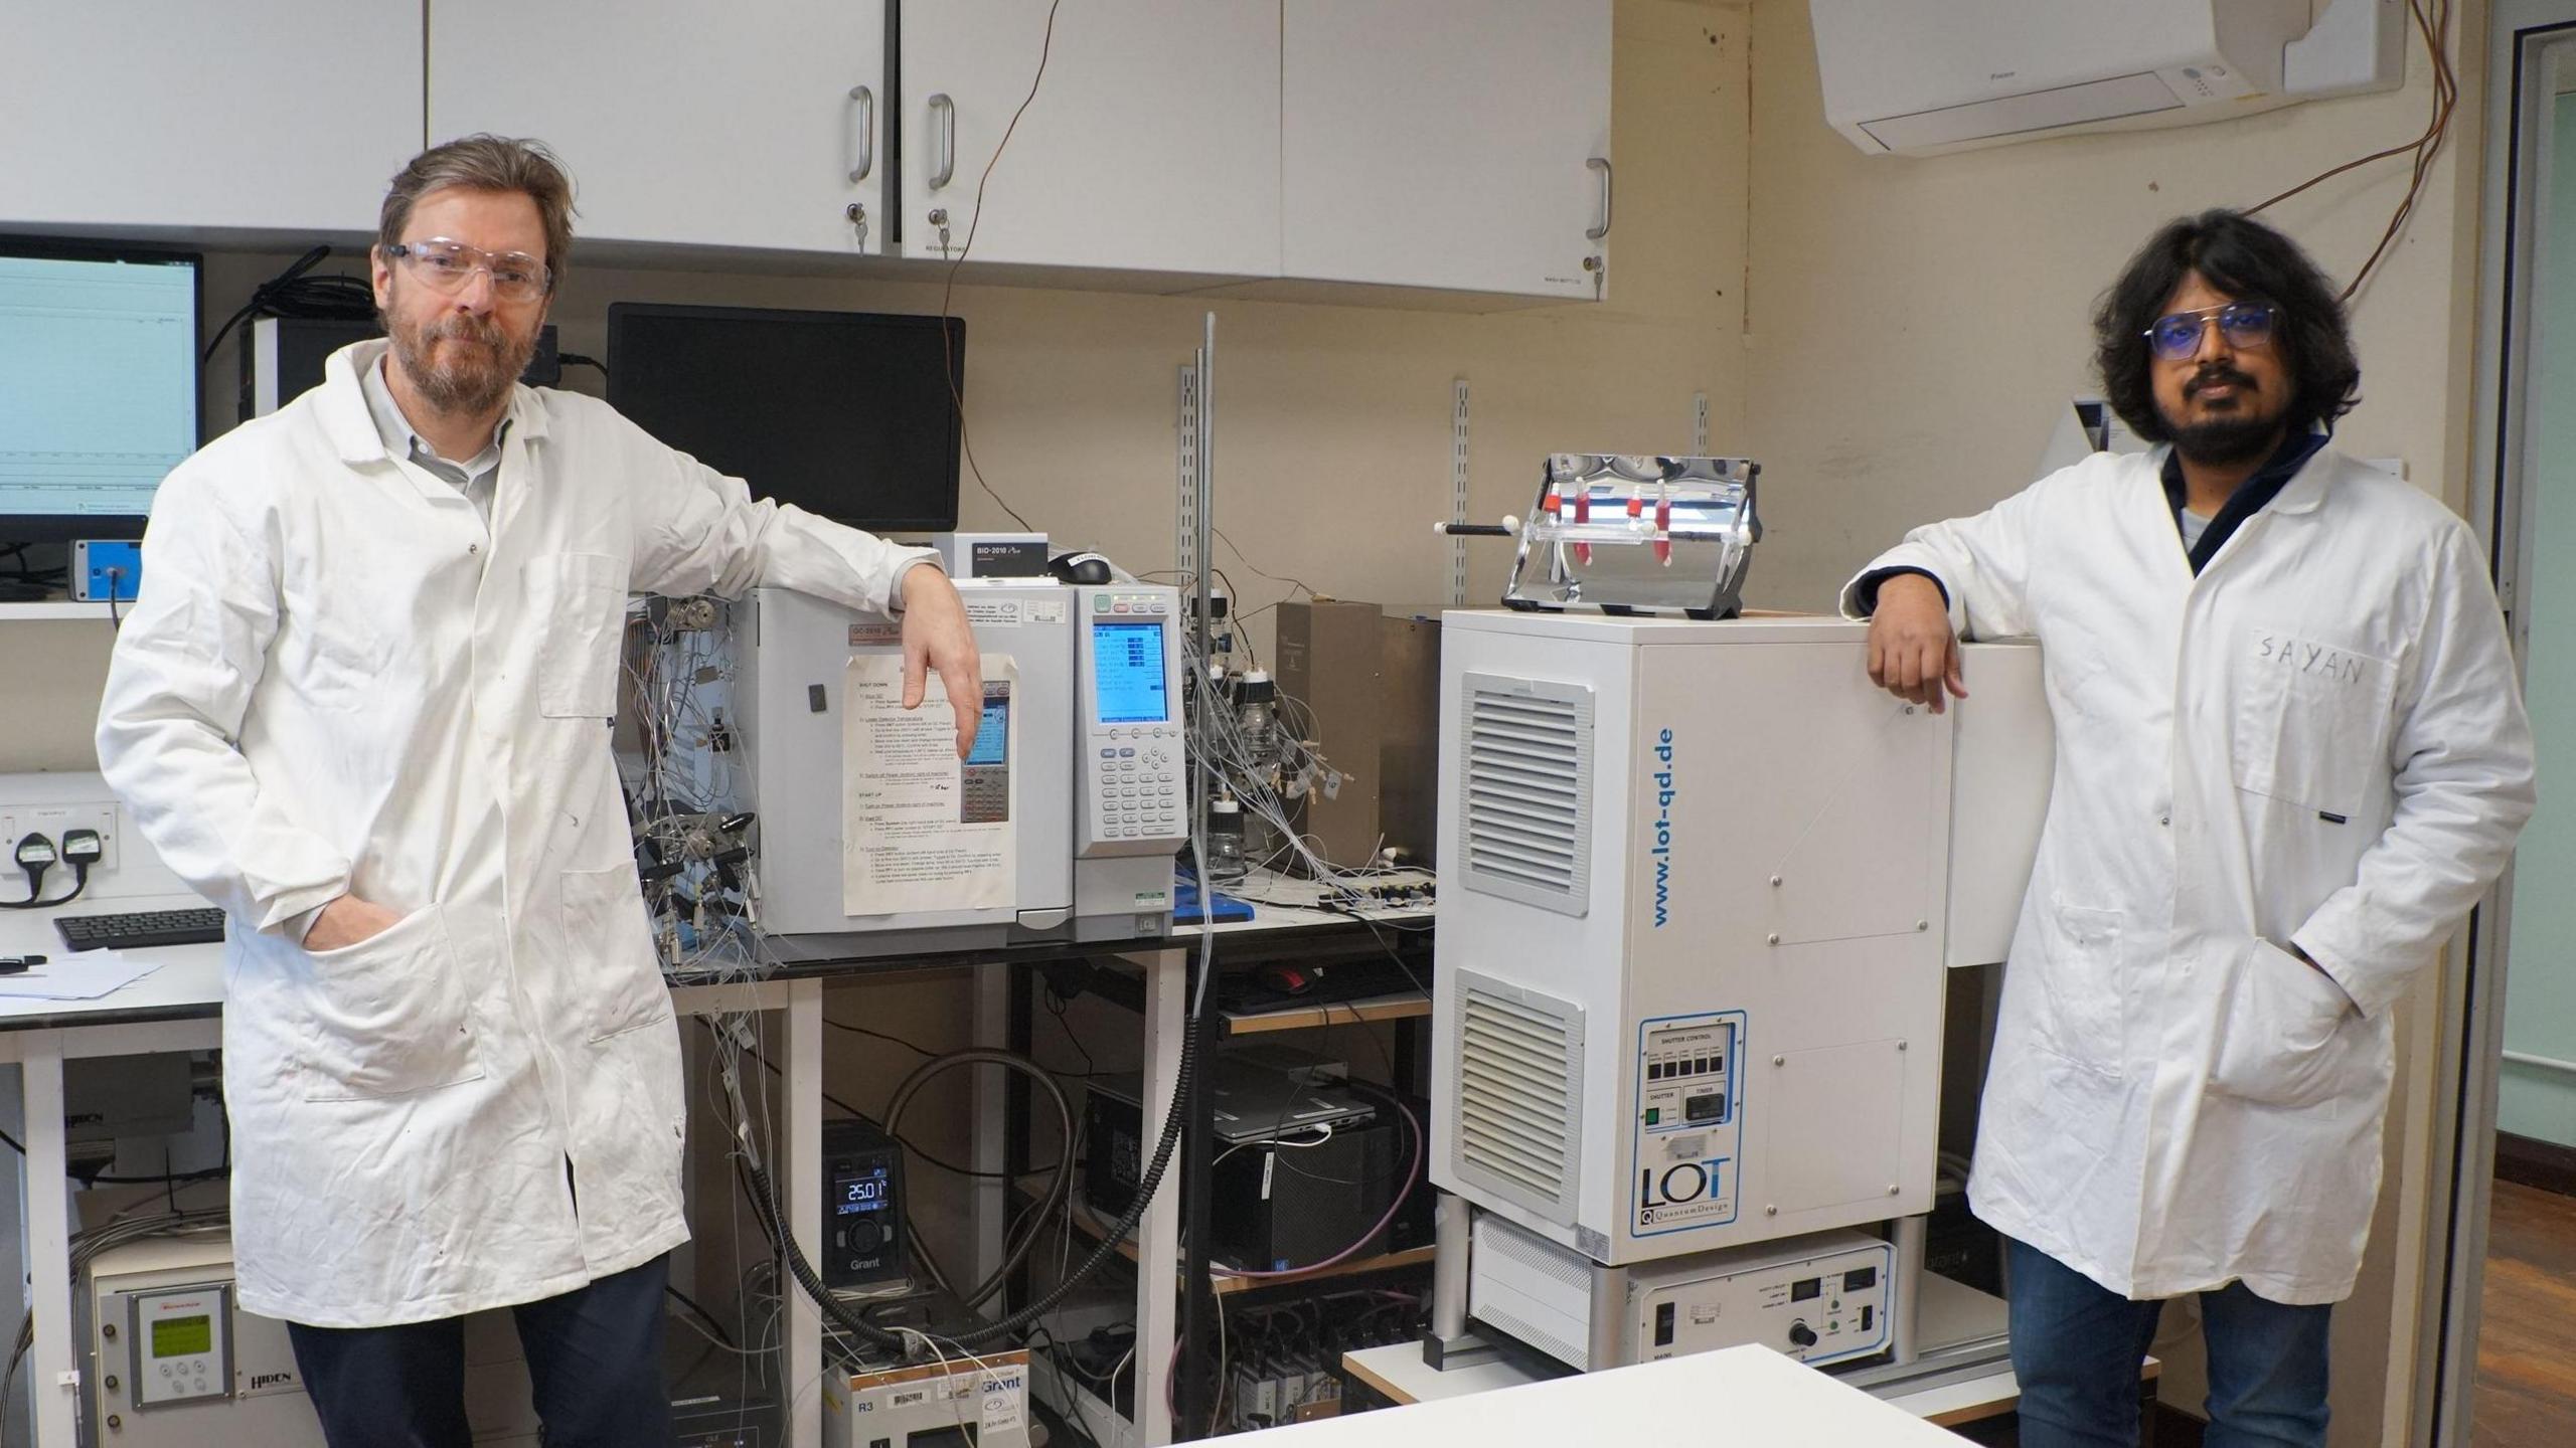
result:
[[[1221,922],[1208,930],[1211,956],[1221,971],[1249,961],[1275,961],[1283,956],[1316,958],[1319,953],[1376,953],[1383,940],[1412,940],[1419,948],[1417,974],[1430,979],[1427,925],[1430,904],[1409,907],[1358,907],[1319,910],[1298,904],[1314,899],[1311,884],[1262,881],[1255,894],[1265,897],[1255,920]],[[54,910],[23,910],[0,915],[0,953],[44,953],[52,969],[77,961],[54,933],[57,915],[106,915],[144,910],[188,910],[204,902],[193,894],[170,897],[116,897],[80,899]],[[799,935],[770,938],[765,956],[752,971],[726,976],[672,979],[672,1005],[680,1015],[778,1013],[783,1028],[783,1139],[814,1141],[822,1126],[822,1000],[824,984],[866,979],[889,971],[971,969],[976,976],[976,1043],[1015,1043],[1028,1049],[1033,976],[1038,966],[1061,961],[1090,961],[1103,974],[1131,984],[1131,1002],[1141,1025],[1144,1064],[1144,1129],[1146,1139],[1159,1136],[1164,1105],[1180,1072],[1182,1033],[1190,1028],[1188,1002],[1200,951],[1200,928],[1182,925],[1170,933],[1136,930],[1118,922],[1108,930],[1077,933],[1072,938],[1025,930],[945,930],[945,933],[884,933],[884,935]],[[0,1064],[21,1072],[21,1100],[26,1108],[26,1157],[21,1170],[21,1221],[26,1226],[26,1278],[28,1304],[36,1319],[36,1342],[28,1353],[28,1399],[33,1412],[36,1448],[72,1448],[75,1399],[80,1391],[80,1345],[72,1340],[72,1255],[70,1255],[70,1190],[67,1129],[62,1100],[62,1069],[67,1059],[82,1056],[134,1056],[160,1051],[214,1051],[222,1046],[222,946],[160,946],[129,951],[126,958],[152,961],[157,969],[98,1000],[33,1000],[0,997]],[[1005,969],[987,969],[1005,966]],[[1340,1007],[1334,1007],[1340,1010]],[[1425,1002],[1376,1000],[1355,1005],[1363,1018],[1427,1010]],[[1306,1015],[1327,1015],[1303,1007]],[[1252,1018],[1265,1013],[1249,1013]],[[1291,1013],[1296,1015],[1296,1013]],[[1218,1031],[1244,1028],[1244,1018],[1211,1018],[1198,1025],[1206,1038]],[[974,1167],[992,1172],[974,1190],[974,1234],[987,1250],[999,1250],[1012,1190],[1005,1172],[1010,1152],[1023,1152],[1025,1167],[1025,1095],[1012,1108],[1005,1090],[992,1082],[999,1072],[976,1072],[976,1139]],[[1018,1082],[1018,1077],[1012,1077]],[[1018,1095],[1018,1092],[1010,1092]],[[1185,1167],[1180,1190],[1157,1193],[1136,1229],[1139,1250],[1151,1260],[1182,1260],[1185,1203],[1203,1211],[1206,1162],[1206,1110],[1185,1123]],[[822,1165],[819,1152],[786,1152],[788,1229],[806,1255],[817,1255],[822,1242]],[[1188,1183],[1198,1180],[1193,1190]],[[1198,1234],[1206,1237],[1203,1232]],[[1139,1394],[1141,1420],[1133,1440],[1167,1443],[1172,1415],[1164,1407],[1162,1378],[1175,1366],[1172,1342],[1198,1340],[1213,1327],[1208,1322],[1211,1293],[1182,1293],[1182,1281],[1206,1283],[1203,1262],[1188,1273],[1139,1273],[1133,1293],[1133,1322],[1139,1332]],[[822,1322],[811,1304],[788,1314],[783,1332],[783,1381],[809,1384],[822,1371]],[[1195,1304],[1195,1306],[1190,1306]],[[819,1443],[819,1396],[788,1394],[793,1399],[788,1440]]]

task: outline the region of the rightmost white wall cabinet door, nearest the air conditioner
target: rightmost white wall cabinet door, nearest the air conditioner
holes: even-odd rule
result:
[[[1610,0],[1283,0],[1280,44],[1283,276],[1600,296]]]

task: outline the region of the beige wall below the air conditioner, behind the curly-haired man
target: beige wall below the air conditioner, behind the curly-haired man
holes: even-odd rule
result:
[[[2452,54],[2481,49],[2470,39]],[[1842,580],[1909,526],[1981,510],[2027,484],[2050,407],[2094,389],[2092,301],[2156,224],[2202,206],[2249,206],[2414,139],[2429,100],[2416,44],[2403,93],[2210,126],[1865,157],[1824,124],[1806,3],[1757,0],[1749,384],[1736,443],[1765,464],[1759,603],[1832,608]],[[2357,456],[2403,459],[2414,482],[2455,508],[2468,497],[2476,113],[2470,93],[2414,222],[2357,299],[2365,405],[2339,433]],[[2403,160],[2378,162],[2267,219],[2329,273],[2349,276],[2403,186]],[[2403,1440],[2432,1000],[2419,992],[2401,1028],[2416,1049],[2401,1062],[2391,1185],[2362,1286],[2336,1317],[2339,1445]],[[2164,1396],[2190,1409],[2205,1394],[2195,1337],[2174,1311]]]

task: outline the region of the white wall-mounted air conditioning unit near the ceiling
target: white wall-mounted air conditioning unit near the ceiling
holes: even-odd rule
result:
[[[1808,0],[1826,121],[1870,155],[2190,126],[2406,80],[2403,0]],[[2311,26],[2313,18],[2313,26]]]

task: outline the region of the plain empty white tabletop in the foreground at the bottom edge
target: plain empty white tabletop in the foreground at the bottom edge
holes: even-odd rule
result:
[[[1396,1348],[1381,1348],[1391,1353]],[[1419,1348],[1412,1350],[1419,1360]],[[1942,1427],[1770,1348],[1692,1353],[1636,1368],[1293,1422],[1278,1448],[1473,1448],[1558,1443],[1759,1443],[1762,1448],[1958,1448]]]

